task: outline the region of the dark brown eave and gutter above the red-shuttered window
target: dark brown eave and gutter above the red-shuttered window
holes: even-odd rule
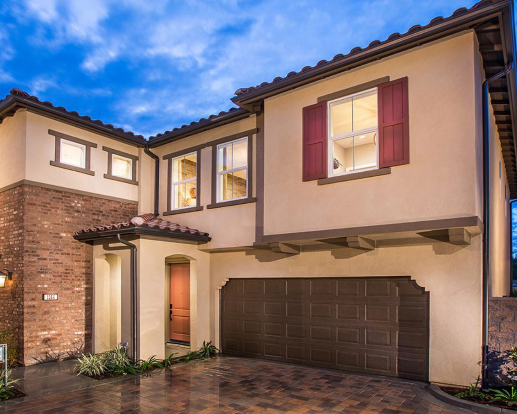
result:
[[[484,6],[480,9],[466,12],[459,17],[453,17],[443,23],[423,28],[415,33],[402,35],[402,37],[396,40],[386,41],[384,45],[357,52],[336,62],[329,62],[320,67],[314,67],[305,72],[299,72],[289,78],[284,78],[275,83],[259,87],[254,91],[237,95],[232,98],[232,101],[239,107],[249,110],[250,108],[254,108],[258,101],[268,97],[279,95],[288,90],[336,75],[345,70],[354,69],[367,63],[381,60],[386,56],[402,52],[415,46],[420,46],[423,43],[428,43],[473,28],[475,25],[497,16],[498,13],[508,12],[510,10],[511,0]]]

